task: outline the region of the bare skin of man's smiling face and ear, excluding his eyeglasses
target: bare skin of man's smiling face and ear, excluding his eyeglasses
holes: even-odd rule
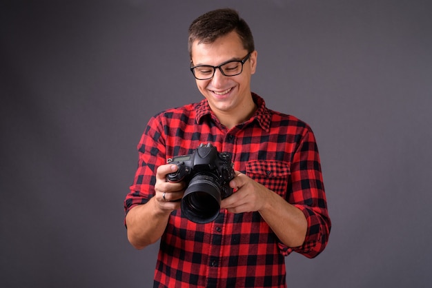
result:
[[[242,60],[247,54],[237,32],[230,32],[214,43],[195,41],[192,45],[193,65],[217,66],[226,61]],[[224,76],[217,69],[212,79],[196,80],[198,90],[217,116],[244,114],[245,107],[251,107],[251,75],[255,73],[256,64],[257,52],[254,51],[244,63],[241,74]]]

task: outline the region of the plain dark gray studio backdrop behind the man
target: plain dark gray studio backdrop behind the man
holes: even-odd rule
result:
[[[153,114],[202,96],[187,28],[230,6],[253,91],[315,132],[333,230],[289,287],[430,287],[430,1],[1,1],[0,286],[150,287],[123,200]]]

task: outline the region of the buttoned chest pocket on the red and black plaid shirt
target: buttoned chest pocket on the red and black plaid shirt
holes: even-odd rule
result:
[[[251,161],[246,164],[246,175],[285,198],[290,178],[288,163],[283,161]]]

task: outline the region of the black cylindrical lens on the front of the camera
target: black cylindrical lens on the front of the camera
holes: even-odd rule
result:
[[[181,199],[181,213],[195,223],[209,223],[219,215],[221,189],[217,176],[198,173],[190,180]]]

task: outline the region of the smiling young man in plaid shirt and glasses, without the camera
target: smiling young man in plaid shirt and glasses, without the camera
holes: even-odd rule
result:
[[[313,132],[251,92],[257,51],[234,10],[195,19],[189,52],[205,99],[150,119],[125,200],[128,240],[161,240],[154,287],[286,287],[284,256],[317,256],[331,229]],[[228,152],[235,170],[234,193],[209,223],[181,212],[188,183],[167,181],[178,169],[167,160],[201,143]]]

